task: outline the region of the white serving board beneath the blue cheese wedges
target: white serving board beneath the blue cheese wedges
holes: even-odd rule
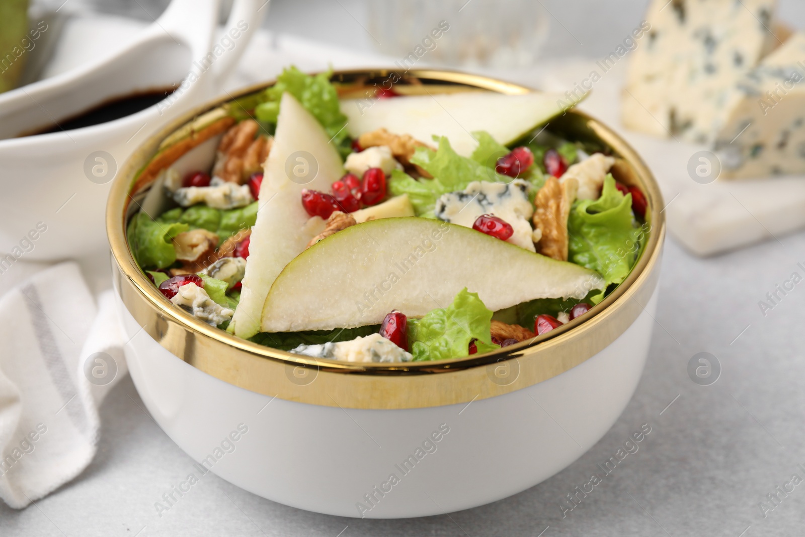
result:
[[[688,250],[711,255],[805,227],[805,176],[716,180],[700,184],[688,175],[691,156],[708,147],[653,138],[621,126],[621,88],[628,56],[608,72],[587,60],[546,66],[542,89],[564,92],[593,69],[601,74],[579,108],[613,127],[642,156],[663,191],[671,234]]]

